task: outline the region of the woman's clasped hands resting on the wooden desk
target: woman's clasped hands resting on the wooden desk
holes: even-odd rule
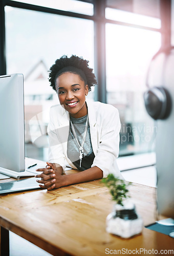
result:
[[[36,180],[42,189],[52,190],[53,188],[58,188],[62,186],[63,175],[58,172],[56,165],[47,162],[46,168],[36,169],[37,172],[42,172],[36,175],[36,178],[41,178],[41,180]]]

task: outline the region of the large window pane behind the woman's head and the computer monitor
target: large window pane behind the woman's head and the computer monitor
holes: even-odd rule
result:
[[[91,20],[12,7],[5,11],[7,74],[24,74],[26,156],[40,158],[33,148],[29,155],[28,148],[32,142],[37,148],[48,146],[49,109],[59,103],[48,71],[57,58],[72,54],[88,59],[93,68],[94,25]],[[88,97],[93,100],[94,92]]]

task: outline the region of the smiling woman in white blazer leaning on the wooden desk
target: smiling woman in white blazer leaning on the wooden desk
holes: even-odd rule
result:
[[[49,162],[35,177],[41,188],[52,190],[107,177],[121,177],[116,158],[119,154],[119,113],[114,106],[86,102],[97,81],[87,60],[62,56],[50,68],[51,87],[60,105],[52,106],[49,135]],[[66,166],[82,170],[63,175]]]

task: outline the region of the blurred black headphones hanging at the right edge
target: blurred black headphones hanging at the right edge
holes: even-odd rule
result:
[[[172,49],[174,49],[174,47],[167,47],[167,48],[160,49],[154,55],[151,61],[153,61],[161,53],[164,53],[165,57],[167,58]],[[148,77],[149,77],[150,66],[148,68],[147,76],[146,76],[146,86],[149,89],[144,93],[145,108],[147,110],[147,113],[155,120],[166,119],[169,116],[171,111],[171,97],[163,85],[155,86],[153,88],[149,87]],[[164,76],[164,68],[163,68],[162,76]]]

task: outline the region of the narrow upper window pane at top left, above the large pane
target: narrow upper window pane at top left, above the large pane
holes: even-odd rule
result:
[[[15,0],[12,0],[15,1]],[[48,8],[58,9],[62,11],[71,11],[86,15],[93,15],[93,5],[76,0],[18,0],[17,2],[44,6]]]

